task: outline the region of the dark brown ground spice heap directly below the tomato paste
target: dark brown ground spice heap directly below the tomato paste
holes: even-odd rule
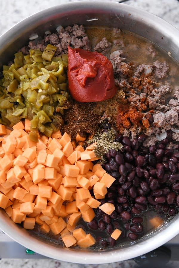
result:
[[[93,112],[95,109],[93,102],[76,102],[65,111],[64,126],[62,133],[67,132],[72,140],[79,134],[86,138],[88,133],[95,133],[98,124],[98,116]]]

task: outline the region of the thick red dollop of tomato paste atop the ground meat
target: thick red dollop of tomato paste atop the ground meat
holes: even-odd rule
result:
[[[78,102],[99,102],[116,93],[112,63],[103,54],[68,47],[68,86]]]

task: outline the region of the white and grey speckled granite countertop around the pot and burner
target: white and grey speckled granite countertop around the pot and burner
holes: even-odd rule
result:
[[[48,7],[55,6],[61,3],[67,3],[73,0],[4,0],[1,1],[0,8],[0,35],[7,31],[14,24],[18,23],[22,19]],[[126,4],[142,8],[149,11],[170,24],[179,28],[179,1],[178,0],[129,0]],[[52,259],[41,260],[29,260],[29,259],[2,259],[0,261],[0,267],[3,268],[132,268],[134,267],[133,261],[125,261],[112,264],[101,265],[83,265],[83,264],[71,264],[63,261],[57,261]],[[172,268],[178,267],[173,264]]]

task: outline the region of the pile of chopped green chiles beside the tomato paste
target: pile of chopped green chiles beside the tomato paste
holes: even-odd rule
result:
[[[18,52],[11,66],[3,66],[0,123],[13,127],[28,118],[33,141],[38,141],[37,130],[50,137],[64,124],[61,115],[69,99],[68,55],[54,57],[55,51],[56,47],[48,44],[44,52],[38,49],[30,49],[28,55]]]

